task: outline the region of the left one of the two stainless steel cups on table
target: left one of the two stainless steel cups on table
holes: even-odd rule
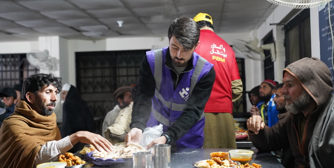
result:
[[[133,154],[133,168],[151,168],[152,154],[151,152],[137,152]]]

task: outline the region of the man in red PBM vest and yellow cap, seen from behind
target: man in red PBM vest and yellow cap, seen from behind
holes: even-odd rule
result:
[[[205,108],[204,148],[236,148],[232,102],[242,96],[242,81],[234,51],[214,32],[213,19],[205,13],[193,20],[200,28],[195,52],[214,64],[215,83]],[[219,133],[219,134],[217,134]]]

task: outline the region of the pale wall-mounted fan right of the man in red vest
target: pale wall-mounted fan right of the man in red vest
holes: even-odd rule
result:
[[[266,56],[263,50],[270,50],[271,61],[276,61],[275,43],[270,43],[258,47],[259,39],[256,37],[249,38],[248,41],[242,39],[236,39],[233,41],[233,49],[238,53],[245,55],[253,60],[265,60]]]

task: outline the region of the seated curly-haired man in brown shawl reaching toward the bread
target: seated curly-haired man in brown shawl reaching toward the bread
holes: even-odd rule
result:
[[[112,145],[100,135],[79,131],[61,139],[57,127],[57,94],[62,79],[50,74],[34,74],[23,83],[21,100],[0,129],[0,167],[33,167],[57,161],[78,142],[92,144],[99,151]]]

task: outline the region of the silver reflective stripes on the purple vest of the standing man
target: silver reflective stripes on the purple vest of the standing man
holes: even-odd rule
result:
[[[170,110],[173,111],[183,111],[183,109],[186,107],[186,104],[178,104],[178,103],[173,103],[170,101],[166,101],[162,98],[161,94],[159,93],[160,91],[160,87],[161,87],[161,76],[162,76],[162,69],[161,67],[162,65],[162,49],[158,49],[154,51],[154,79],[155,79],[155,94],[154,96],[163,103],[163,105],[167,108],[169,108]],[[191,96],[192,91],[194,90],[196,84],[197,84],[197,80],[198,77],[204,67],[206,60],[203,59],[202,57],[199,57],[194,69],[194,72],[191,76],[191,83],[190,83],[190,89],[189,89],[189,97]],[[168,118],[165,118],[162,114],[160,114],[158,111],[156,111],[153,106],[151,108],[152,113],[154,118],[159,121],[160,123],[170,127],[170,120]],[[204,117],[204,112],[202,112],[200,119],[202,119]]]

